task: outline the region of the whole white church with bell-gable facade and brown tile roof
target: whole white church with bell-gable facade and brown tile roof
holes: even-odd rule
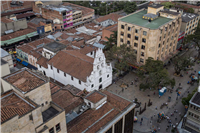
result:
[[[46,76],[81,90],[104,89],[112,83],[112,66],[102,49],[87,54],[79,49],[62,50],[50,60],[43,57],[37,65]]]

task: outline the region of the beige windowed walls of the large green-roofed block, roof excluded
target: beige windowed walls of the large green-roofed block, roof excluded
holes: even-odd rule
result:
[[[179,16],[179,19],[177,18],[170,21],[155,30],[118,21],[117,46],[120,46],[121,44],[132,46],[137,53],[137,63],[140,64],[144,64],[148,57],[164,61],[170,53],[173,53],[176,50],[181,20],[182,19]],[[121,25],[124,26],[124,29]],[[131,28],[130,31],[128,31],[128,27]],[[138,33],[136,33],[136,30]],[[128,37],[128,34],[130,34],[131,37]],[[135,38],[136,36],[138,37],[138,40]],[[146,42],[143,42],[143,39],[145,39]]]

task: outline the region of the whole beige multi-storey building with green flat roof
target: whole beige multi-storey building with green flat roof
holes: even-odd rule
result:
[[[117,46],[132,46],[137,63],[144,64],[148,57],[165,61],[176,52],[181,27],[181,14],[154,4],[118,20]]]

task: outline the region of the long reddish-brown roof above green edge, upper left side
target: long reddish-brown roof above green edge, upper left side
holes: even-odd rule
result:
[[[6,41],[6,40],[9,40],[9,39],[12,39],[12,38],[16,38],[16,37],[19,37],[19,36],[22,36],[22,35],[26,35],[26,34],[31,33],[31,32],[35,32],[35,30],[30,29],[30,28],[27,28],[27,29],[24,29],[24,30],[19,30],[19,31],[16,31],[14,33],[10,33],[8,35],[1,36],[0,41]]]

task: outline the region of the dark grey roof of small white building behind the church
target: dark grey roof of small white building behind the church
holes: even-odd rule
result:
[[[67,47],[66,45],[59,43],[59,42],[55,42],[55,41],[44,45],[44,48],[46,48],[47,50],[50,50],[54,53],[66,48],[66,47]]]

